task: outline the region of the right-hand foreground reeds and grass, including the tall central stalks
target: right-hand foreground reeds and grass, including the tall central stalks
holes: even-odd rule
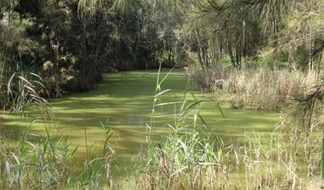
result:
[[[278,76],[277,82],[284,77]],[[158,96],[168,91],[161,90],[161,82],[157,84]],[[185,94],[177,104],[175,125],[168,124],[173,132],[161,143],[149,139],[133,159],[136,189],[309,189],[313,182],[320,186],[320,119],[312,120],[310,132],[282,115],[273,132],[246,132],[238,141],[225,144],[200,115],[205,99],[189,96]]]

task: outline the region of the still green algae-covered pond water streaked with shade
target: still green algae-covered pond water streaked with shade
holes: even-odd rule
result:
[[[160,79],[168,70],[162,70]],[[116,158],[120,172],[123,167],[130,164],[141,145],[146,147],[146,139],[149,136],[147,124],[151,125],[151,110],[156,89],[157,70],[140,70],[131,72],[119,72],[105,75],[104,82],[98,89],[88,93],[76,93],[61,99],[53,99],[51,105],[57,112],[58,127],[67,134],[74,146],[80,144],[80,157],[85,155],[85,139],[87,144],[102,146],[104,131],[100,122],[106,122],[111,127],[113,137],[111,143],[116,148]],[[192,84],[188,82],[184,70],[176,69],[171,72],[162,84],[162,91],[171,89],[161,96],[162,102],[181,101],[186,89]],[[211,96],[217,99],[217,94],[201,94],[194,92],[195,96]],[[213,134],[223,141],[234,141],[244,137],[244,133],[255,130],[256,132],[269,132],[278,122],[278,113],[261,113],[257,110],[231,110],[230,105],[220,103],[223,115],[211,100],[204,102],[201,115]],[[156,115],[171,115],[177,113],[180,105],[170,104],[162,108],[156,107]],[[24,119],[18,119],[12,115],[3,115],[4,128],[7,132],[18,135],[23,130],[27,121],[37,117],[36,113],[29,113]],[[21,122],[21,120],[25,122]],[[168,132],[166,124],[174,125],[173,116],[156,118],[150,126],[152,139],[160,139],[161,134]],[[85,138],[85,128],[87,138]],[[39,121],[32,127],[32,133],[43,134],[44,125]],[[100,149],[100,148],[99,148]]]

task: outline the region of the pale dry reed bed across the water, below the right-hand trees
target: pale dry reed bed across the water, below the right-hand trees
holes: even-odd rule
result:
[[[314,71],[305,73],[264,67],[239,70],[222,64],[210,65],[204,70],[189,68],[189,75],[201,91],[234,96],[231,98],[233,108],[251,106],[258,110],[280,110],[291,106],[300,87],[314,84],[318,77]]]

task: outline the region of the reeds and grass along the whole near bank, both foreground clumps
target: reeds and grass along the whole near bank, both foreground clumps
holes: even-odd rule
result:
[[[134,189],[310,189],[312,182],[320,182],[322,114],[307,116],[308,127],[282,115],[273,132],[250,131],[225,143],[201,115],[206,98],[197,99],[186,92],[182,101],[162,101],[163,94],[170,91],[161,87],[166,77],[156,83],[147,146],[142,146],[128,168],[135,179]],[[86,145],[86,155],[79,160],[78,147],[71,147],[68,137],[53,122],[49,104],[40,100],[36,107],[42,117],[37,120],[46,127],[42,137],[30,133],[36,119],[15,143],[1,133],[0,188],[123,189],[110,170],[115,157],[108,120],[101,123],[105,139],[102,152],[98,153],[94,144]],[[179,110],[172,115],[175,123],[167,124],[170,134],[157,142],[151,139],[152,127],[159,127],[154,122],[155,110],[170,104]],[[85,138],[87,141],[86,126]]]

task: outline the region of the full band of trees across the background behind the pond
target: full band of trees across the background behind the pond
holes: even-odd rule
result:
[[[42,79],[57,97],[93,89],[104,72],[160,63],[317,69],[321,8],[319,0],[1,1],[0,100],[19,94],[18,76]]]

